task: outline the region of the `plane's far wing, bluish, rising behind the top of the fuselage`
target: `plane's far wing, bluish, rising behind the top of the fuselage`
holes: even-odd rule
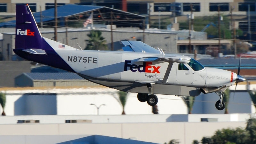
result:
[[[124,44],[124,51],[159,53],[158,50],[141,41],[121,41]]]

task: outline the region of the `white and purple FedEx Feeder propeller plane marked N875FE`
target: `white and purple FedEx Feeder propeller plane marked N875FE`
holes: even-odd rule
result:
[[[16,5],[15,52],[18,56],[74,72],[91,82],[123,92],[138,93],[138,100],[157,104],[155,94],[198,96],[216,92],[218,110],[225,108],[223,92],[243,82],[238,74],[204,68],[187,56],[164,54],[139,41],[121,41],[124,51],[86,51],[42,37],[28,5]]]

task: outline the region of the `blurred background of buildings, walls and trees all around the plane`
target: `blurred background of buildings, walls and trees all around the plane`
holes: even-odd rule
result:
[[[149,106],[15,55],[16,4],[29,5],[42,36],[77,49],[136,40],[235,73],[241,57],[246,81],[229,87],[222,111],[215,93]],[[255,0],[0,0],[0,142],[255,143],[255,58]]]

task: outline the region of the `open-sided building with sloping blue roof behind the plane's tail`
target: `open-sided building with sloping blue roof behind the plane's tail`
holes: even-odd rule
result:
[[[33,16],[40,27],[55,26],[55,9],[35,12]],[[108,8],[105,6],[67,4],[57,8],[58,26],[84,27],[83,23],[92,15],[93,23],[116,25],[116,27],[143,28],[144,16]],[[16,20],[0,23],[0,27],[15,27]],[[129,25],[127,25],[129,23]]]

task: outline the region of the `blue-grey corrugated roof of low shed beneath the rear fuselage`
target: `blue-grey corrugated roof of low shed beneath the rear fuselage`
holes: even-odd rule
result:
[[[84,80],[75,73],[23,73],[33,80]]]

